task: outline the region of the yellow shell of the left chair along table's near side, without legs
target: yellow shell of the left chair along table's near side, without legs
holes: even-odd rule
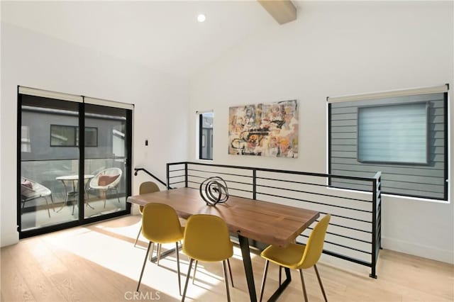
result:
[[[157,243],[177,242],[183,238],[177,212],[163,203],[148,203],[143,208],[142,234]]]

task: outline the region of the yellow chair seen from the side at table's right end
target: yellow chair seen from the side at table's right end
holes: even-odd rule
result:
[[[328,299],[326,298],[325,290],[323,289],[323,284],[321,284],[319,270],[317,269],[316,263],[320,259],[321,252],[323,252],[323,241],[325,240],[326,228],[328,228],[330,219],[331,215],[327,214],[319,221],[319,223],[316,224],[314,230],[312,230],[311,235],[309,235],[309,239],[307,240],[306,245],[299,245],[296,243],[290,243],[289,245],[287,245],[287,247],[276,247],[274,245],[270,245],[265,250],[263,250],[260,256],[262,258],[265,258],[266,262],[265,272],[263,273],[262,279],[262,288],[260,289],[260,301],[262,301],[263,298],[265,281],[267,279],[268,264],[270,264],[270,261],[279,265],[279,271],[282,267],[299,270],[299,276],[301,276],[301,284],[303,286],[304,301],[306,302],[307,293],[306,286],[304,285],[303,269],[314,267],[317,279],[319,279],[323,298],[325,298],[325,301],[328,301]]]

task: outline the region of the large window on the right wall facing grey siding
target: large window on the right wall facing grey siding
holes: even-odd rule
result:
[[[328,98],[328,173],[382,193],[448,200],[448,85]],[[362,189],[331,177],[330,185]]]

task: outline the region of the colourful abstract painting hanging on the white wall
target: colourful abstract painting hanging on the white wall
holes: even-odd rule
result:
[[[228,154],[298,157],[298,101],[230,107]]]

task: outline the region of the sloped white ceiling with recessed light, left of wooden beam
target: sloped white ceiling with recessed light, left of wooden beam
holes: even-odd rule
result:
[[[258,1],[1,1],[1,21],[182,77],[279,26]]]

